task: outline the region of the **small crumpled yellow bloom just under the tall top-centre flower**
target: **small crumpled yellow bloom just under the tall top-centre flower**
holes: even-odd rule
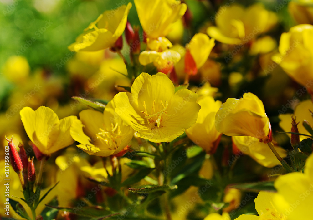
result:
[[[139,62],[146,66],[153,62],[153,65],[158,71],[167,73],[172,70],[174,64],[180,60],[180,54],[173,50],[157,51],[142,51],[139,55]]]

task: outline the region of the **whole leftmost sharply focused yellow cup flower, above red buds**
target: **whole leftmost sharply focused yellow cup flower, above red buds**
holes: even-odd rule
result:
[[[42,154],[50,155],[74,143],[69,128],[77,120],[76,116],[59,120],[58,115],[45,106],[40,106],[35,111],[24,107],[20,116],[29,139]]]

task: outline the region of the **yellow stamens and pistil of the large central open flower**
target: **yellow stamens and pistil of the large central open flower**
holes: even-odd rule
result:
[[[158,112],[156,112],[156,110],[155,110],[155,103],[156,103],[156,101],[153,100],[151,115],[149,115],[147,113],[146,102],[145,101],[143,101],[143,106],[145,108],[145,111],[141,111],[143,114],[146,115],[145,118],[148,120],[148,124],[152,126],[152,129],[156,128],[156,127],[159,128],[162,121],[164,122],[164,121],[167,120],[168,117],[172,116],[172,115],[168,115],[167,112],[166,112],[167,107],[168,107],[167,101],[165,101],[165,105],[164,105],[164,103],[161,100],[161,104],[163,106],[163,109],[158,111]],[[156,113],[154,113],[154,112],[156,112]],[[163,126],[161,126],[161,127],[163,127]]]

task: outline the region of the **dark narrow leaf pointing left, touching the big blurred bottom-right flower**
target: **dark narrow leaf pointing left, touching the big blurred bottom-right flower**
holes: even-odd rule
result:
[[[277,190],[274,187],[274,181],[231,184],[231,185],[228,185],[228,188],[241,189],[244,191],[256,192],[256,193],[260,191],[277,192]]]

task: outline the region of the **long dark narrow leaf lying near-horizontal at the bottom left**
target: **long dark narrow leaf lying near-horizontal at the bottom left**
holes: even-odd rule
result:
[[[93,208],[93,207],[67,208],[67,207],[56,207],[56,206],[51,206],[51,205],[46,205],[46,206],[49,208],[54,208],[57,210],[66,211],[69,213],[74,213],[75,215],[84,216],[84,217],[91,217],[91,218],[95,218],[95,217],[99,218],[99,217],[102,217],[104,215],[111,214],[110,212],[108,212],[105,209]]]

